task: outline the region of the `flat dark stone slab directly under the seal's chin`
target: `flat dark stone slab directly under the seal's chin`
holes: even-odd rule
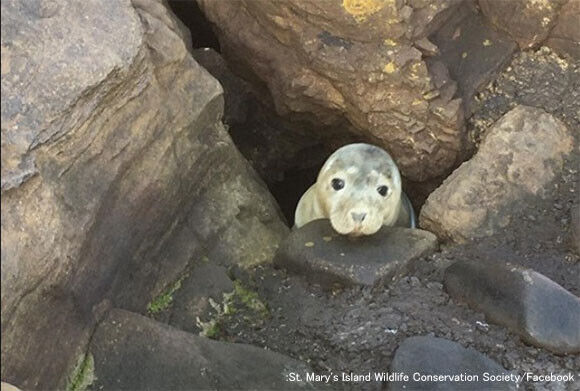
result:
[[[373,286],[405,274],[412,261],[437,249],[437,238],[420,229],[383,227],[371,236],[350,238],[316,220],[290,233],[274,264],[331,287]]]

